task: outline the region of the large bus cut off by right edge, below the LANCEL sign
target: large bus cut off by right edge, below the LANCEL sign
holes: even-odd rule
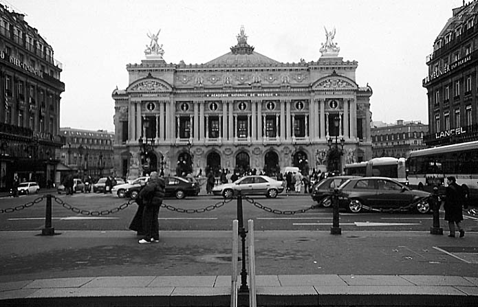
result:
[[[446,177],[454,176],[469,201],[478,198],[478,141],[410,152],[406,161],[411,187],[444,193]]]

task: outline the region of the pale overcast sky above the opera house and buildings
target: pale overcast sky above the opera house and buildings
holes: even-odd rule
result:
[[[61,127],[114,130],[113,89],[144,59],[146,34],[161,29],[164,60],[204,63],[237,44],[241,25],[255,51],[279,62],[318,60],[336,27],[338,56],[358,61],[372,120],[428,124],[425,59],[462,0],[0,0],[25,14],[63,63]],[[466,1],[468,2],[468,0]]]

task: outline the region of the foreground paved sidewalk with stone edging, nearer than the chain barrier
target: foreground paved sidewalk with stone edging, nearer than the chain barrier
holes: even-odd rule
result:
[[[56,233],[0,232],[1,306],[229,306],[231,231],[160,231],[149,245],[132,231]],[[478,304],[476,232],[254,231],[254,239],[259,306]]]

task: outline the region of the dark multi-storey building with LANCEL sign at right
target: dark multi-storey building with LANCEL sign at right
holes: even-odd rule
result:
[[[426,57],[426,146],[478,140],[478,1],[453,9]]]

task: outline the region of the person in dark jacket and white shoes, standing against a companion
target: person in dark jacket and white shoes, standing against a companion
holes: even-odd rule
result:
[[[165,187],[164,179],[157,172],[151,172],[148,183],[140,191],[144,205],[142,216],[144,237],[138,241],[140,244],[160,242],[160,224],[157,222],[157,216],[160,213]]]

